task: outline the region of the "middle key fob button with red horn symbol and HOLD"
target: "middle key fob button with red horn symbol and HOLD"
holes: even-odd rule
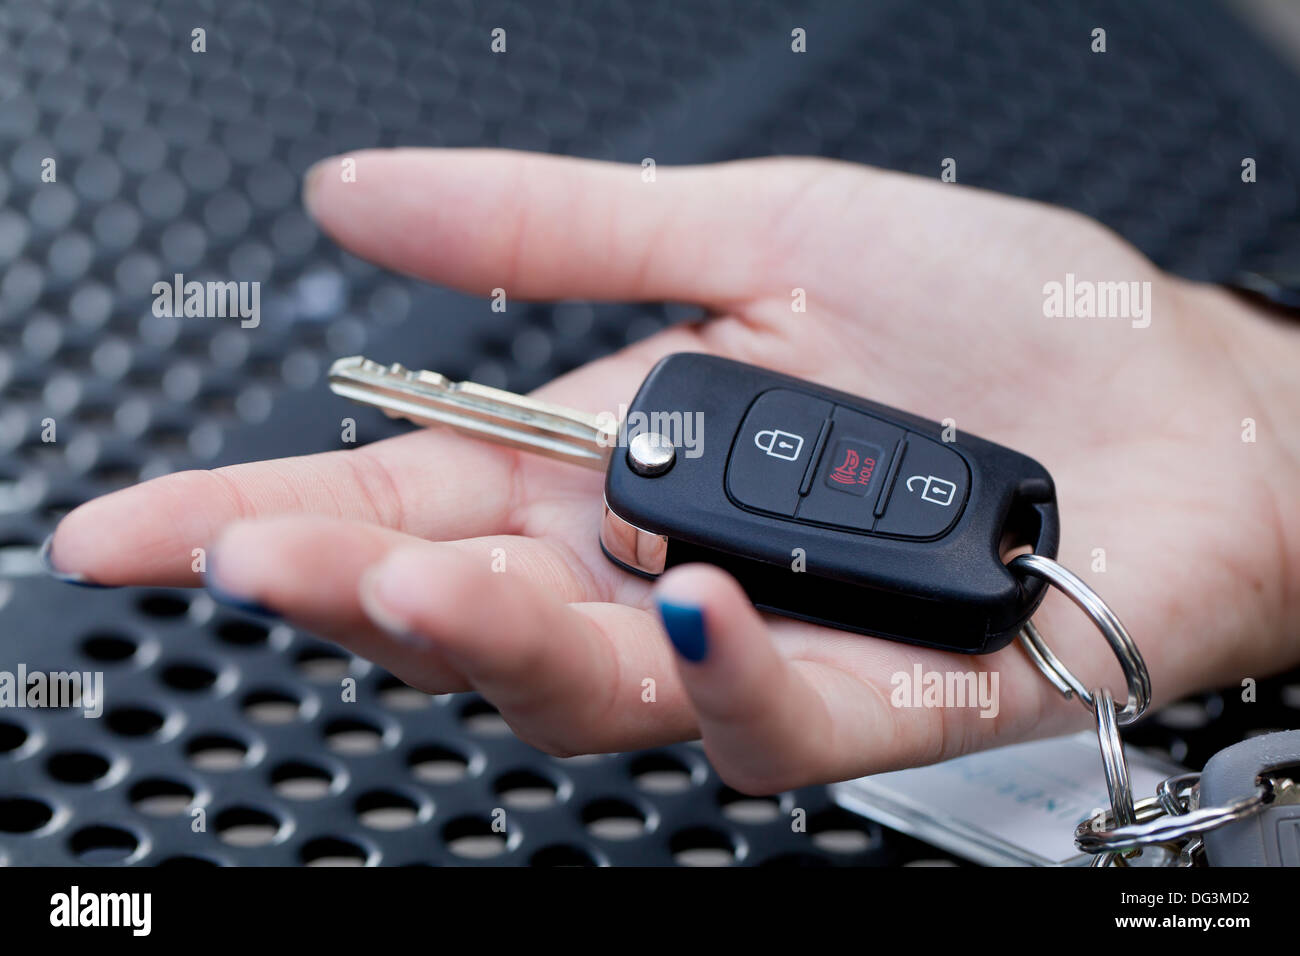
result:
[[[901,428],[837,405],[816,480],[800,503],[800,520],[871,531],[902,437]]]

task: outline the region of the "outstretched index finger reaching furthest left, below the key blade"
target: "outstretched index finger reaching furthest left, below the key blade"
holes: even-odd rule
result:
[[[199,583],[195,549],[234,520],[309,512],[430,538],[511,532],[529,483],[519,455],[445,429],[348,451],[183,471],[90,501],[49,542],[64,578],[101,585]]]

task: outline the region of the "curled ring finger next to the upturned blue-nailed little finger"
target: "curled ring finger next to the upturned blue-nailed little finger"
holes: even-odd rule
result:
[[[521,739],[551,753],[693,735],[647,611],[568,605],[533,580],[493,574],[443,545],[407,548],[370,568],[361,605],[382,627],[437,648]]]

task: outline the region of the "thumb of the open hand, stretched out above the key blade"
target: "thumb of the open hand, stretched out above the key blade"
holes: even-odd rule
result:
[[[647,182],[640,165],[412,148],[348,153],[344,181],[342,159],[308,172],[304,202],[364,259],[478,295],[715,306],[775,287],[762,239],[814,169],[659,168]]]

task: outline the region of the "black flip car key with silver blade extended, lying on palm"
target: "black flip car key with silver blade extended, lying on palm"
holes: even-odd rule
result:
[[[1046,589],[1005,554],[1056,557],[1056,493],[1034,459],[970,434],[945,442],[935,421],[731,359],[668,355],[623,416],[360,356],[334,363],[330,388],[603,468],[612,562],[647,578],[718,564],[758,607],[818,624],[988,653]]]

